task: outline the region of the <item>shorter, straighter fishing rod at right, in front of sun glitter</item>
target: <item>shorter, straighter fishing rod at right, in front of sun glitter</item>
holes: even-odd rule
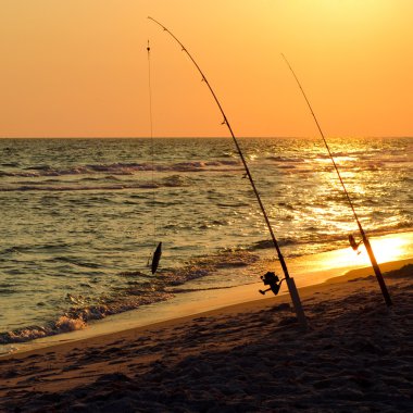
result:
[[[374,252],[373,252],[372,246],[371,246],[371,243],[370,243],[370,240],[368,240],[368,238],[367,238],[367,236],[366,236],[366,234],[365,234],[365,231],[364,231],[364,229],[363,229],[363,227],[362,227],[362,225],[361,225],[361,223],[360,223],[359,216],[358,216],[358,214],[356,214],[356,212],[355,212],[355,210],[354,210],[354,205],[353,205],[353,203],[351,202],[351,199],[350,199],[349,192],[348,192],[347,189],[346,189],[346,185],[345,185],[345,183],[343,183],[343,180],[342,180],[342,178],[341,178],[340,171],[338,170],[338,166],[337,166],[337,164],[336,164],[336,161],[334,160],[333,153],[331,153],[331,151],[330,151],[330,149],[329,149],[329,147],[328,147],[327,139],[325,138],[325,135],[324,135],[324,133],[323,133],[323,129],[322,129],[321,126],[320,126],[320,123],[318,123],[318,121],[317,121],[317,118],[316,118],[316,116],[315,116],[315,113],[314,113],[314,111],[313,111],[313,108],[312,108],[311,104],[310,104],[310,100],[309,100],[309,98],[306,97],[306,95],[305,95],[305,92],[304,92],[304,89],[302,88],[302,86],[301,86],[301,84],[300,84],[300,80],[298,79],[298,77],[297,77],[297,75],[296,75],[296,72],[292,70],[290,63],[288,62],[287,58],[286,58],[283,53],[281,53],[281,57],[283,57],[283,59],[285,60],[285,62],[287,63],[287,66],[289,67],[289,70],[291,71],[292,76],[295,77],[295,79],[296,79],[296,82],[297,82],[297,84],[298,84],[298,87],[300,88],[301,93],[302,93],[302,96],[304,97],[304,100],[305,100],[305,102],[306,102],[306,104],[308,104],[308,107],[309,107],[309,109],[310,109],[310,112],[311,112],[313,118],[314,118],[314,122],[315,122],[315,124],[316,124],[316,126],[317,126],[317,129],[318,129],[318,132],[320,132],[320,135],[321,135],[322,138],[323,138],[323,141],[324,141],[324,145],[325,145],[325,147],[326,147],[326,149],[327,149],[328,155],[329,155],[329,158],[330,158],[330,160],[331,160],[331,162],[333,162],[333,165],[334,165],[334,167],[335,167],[335,170],[336,170],[336,172],[337,172],[338,178],[339,178],[340,184],[341,184],[341,186],[342,186],[342,190],[343,190],[345,193],[346,193],[347,201],[349,202],[349,205],[350,205],[350,208],[351,208],[351,211],[353,212],[354,220],[355,220],[355,222],[356,222],[356,224],[358,224],[358,227],[359,227],[359,230],[360,230],[360,235],[361,235],[361,237],[362,237],[363,243],[364,243],[365,249],[366,249],[366,251],[367,251],[367,254],[368,254],[370,261],[371,261],[371,263],[372,263],[373,270],[374,270],[374,272],[375,272],[375,274],[376,274],[376,278],[377,278],[378,285],[380,286],[383,297],[384,297],[384,299],[385,299],[385,301],[386,301],[386,304],[387,304],[388,306],[390,306],[390,305],[392,304],[392,302],[391,302],[391,298],[390,298],[389,291],[388,291],[388,289],[387,289],[387,286],[386,286],[385,279],[383,278],[380,267],[379,267],[378,264],[377,264],[377,261],[376,261],[376,258],[375,258],[375,255],[374,255]]]

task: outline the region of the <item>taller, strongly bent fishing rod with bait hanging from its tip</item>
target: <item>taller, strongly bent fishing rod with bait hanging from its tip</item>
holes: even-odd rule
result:
[[[254,180],[252,178],[252,175],[251,175],[250,170],[248,167],[247,161],[246,161],[246,159],[243,157],[243,153],[242,153],[241,148],[240,148],[240,146],[238,143],[238,140],[237,140],[237,138],[234,135],[233,128],[229,125],[228,118],[226,117],[225,112],[224,112],[224,110],[223,110],[223,108],[222,108],[222,105],[221,105],[221,103],[220,103],[220,101],[218,101],[218,99],[217,99],[214,90],[212,89],[212,86],[208,82],[205,75],[203,74],[203,72],[201,71],[200,66],[198,65],[198,63],[192,58],[192,55],[189,53],[189,51],[187,50],[187,48],[175,37],[175,35],[171,30],[168,30],[164,25],[162,25],[160,22],[155,21],[152,17],[148,17],[148,18],[151,20],[152,22],[154,22],[155,24],[158,24],[159,26],[161,26],[163,28],[163,30],[166,32],[180,46],[182,51],[185,52],[188,55],[188,58],[190,59],[190,61],[195,64],[195,66],[197,67],[198,72],[200,73],[200,75],[202,77],[202,82],[205,83],[205,85],[208,86],[211,95],[213,96],[213,98],[215,100],[215,103],[217,104],[217,107],[218,107],[218,109],[221,111],[221,114],[224,117],[224,121],[223,121],[222,124],[225,124],[227,126],[227,128],[229,130],[229,134],[233,137],[234,143],[235,143],[235,146],[237,148],[237,152],[239,154],[239,158],[241,159],[241,162],[242,162],[243,167],[246,170],[248,179],[250,180],[252,190],[253,190],[253,192],[255,195],[255,198],[256,198],[256,201],[258,201],[258,203],[260,205],[261,212],[264,215],[265,224],[266,224],[266,226],[268,228],[271,238],[273,240],[274,248],[275,248],[275,250],[277,252],[278,260],[279,260],[279,263],[281,265],[281,268],[283,268],[286,281],[287,281],[287,286],[288,286],[289,293],[290,293],[290,297],[291,297],[291,300],[292,300],[292,304],[295,306],[295,311],[296,311],[297,317],[298,317],[299,323],[301,324],[301,326],[305,328],[306,327],[306,318],[305,318],[304,311],[303,311],[302,305],[301,305],[301,300],[300,300],[300,297],[299,297],[298,289],[296,287],[295,280],[293,280],[292,277],[290,277],[290,275],[288,273],[287,264],[286,264],[286,262],[284,260],[284,256],[283,256],[283,253],[281,253],[281,251],[279,249],[278,242],[277,242],[277,240],[275,238],[273,228],[272,228],[270,220],[268,220],[268,215],[266,214],[264,204],[261,201],[260,193],[259,193],[259,191],[256,189],[255,183],[254,183]]]

